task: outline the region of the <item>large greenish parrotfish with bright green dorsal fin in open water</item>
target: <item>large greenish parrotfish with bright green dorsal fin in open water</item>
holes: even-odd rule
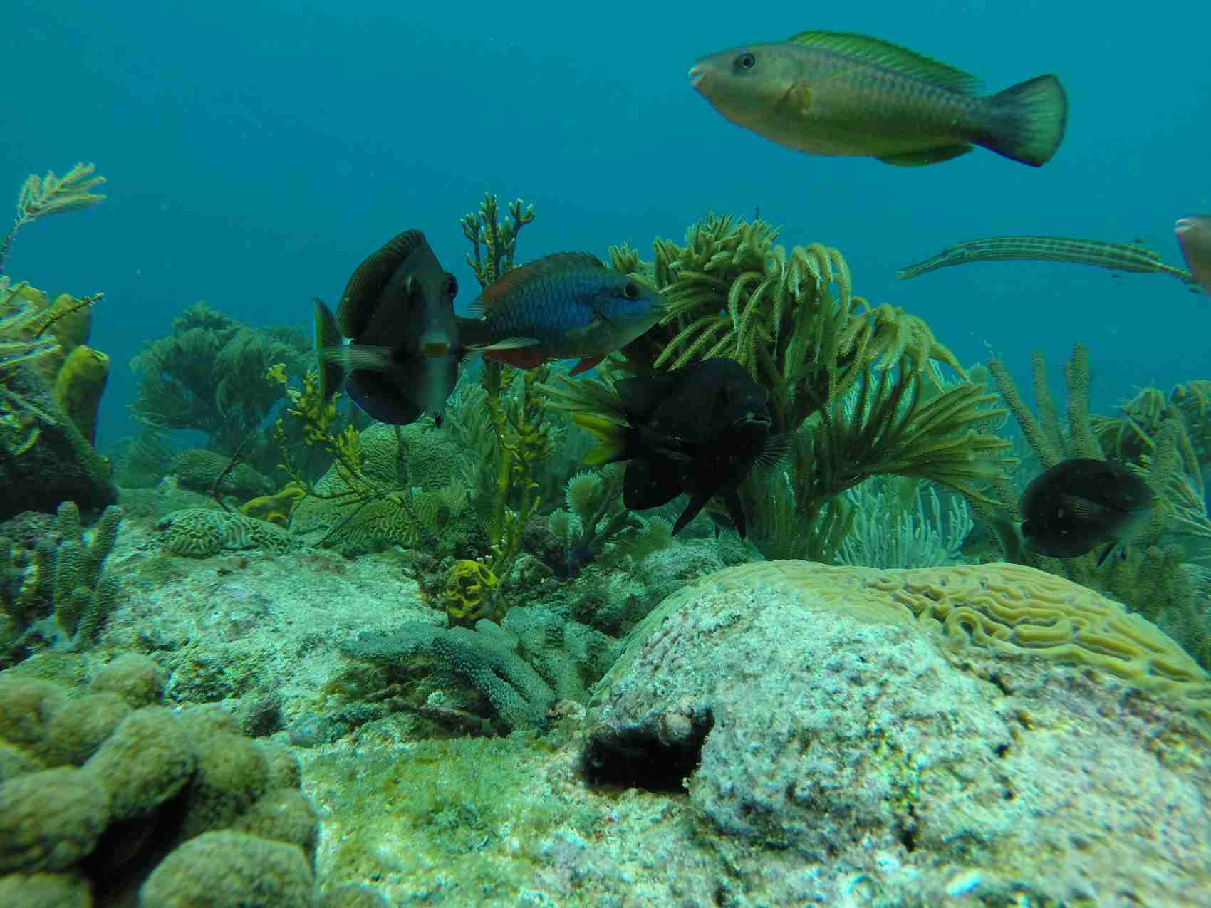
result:
[[[968,73],[839,31],[712,53],[689,77],[728,120],[780,145],[902,167],[948,161],[975,145],[1039,167],[1060,148],[1068,119],[1054,75],[978,96]]]

